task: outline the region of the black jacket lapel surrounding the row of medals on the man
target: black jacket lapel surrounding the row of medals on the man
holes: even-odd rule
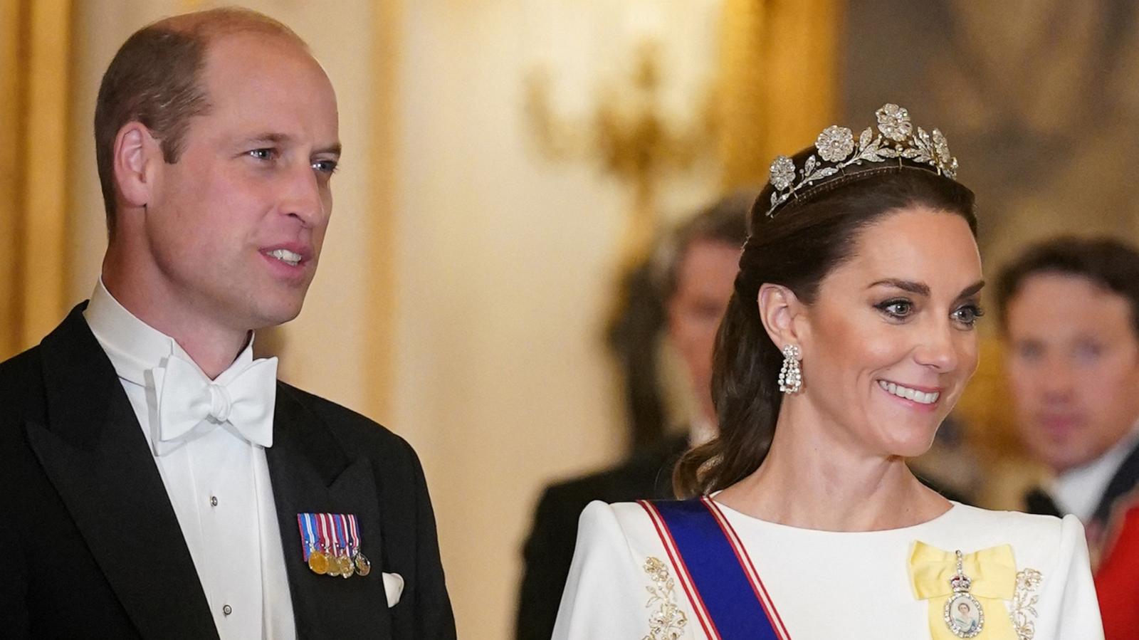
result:
[[[364,457],[350,459],[320,418],[282,384],[277,385],[273,422],[273,445],[265,453],[297,635],[391,638],[380,574],[379,500],[371,463]],[[371,573],[350,579],[312,573],[302,560],[296,516],[303,512],[355,514]]]

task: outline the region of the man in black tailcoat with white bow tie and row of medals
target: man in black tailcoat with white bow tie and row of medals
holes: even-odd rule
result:
[[[103,277],[0,363],[0,635],[454,638],[412,449],[252,355],[300,312],[331,208],[308,47],[252,11],[161,20],[95,128]]]

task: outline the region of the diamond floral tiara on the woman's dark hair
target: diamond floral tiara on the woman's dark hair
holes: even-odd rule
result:
[[[775,216],[777,208],[782,206],[808,187],[836,173],[845,173],[851,165],[863,163],[884,163],[901,158],[917,164],[929,165],[929,171],[936,171],[951,180],[957,179],[957,158],[949,151],[949,143],[941,131],[934,129],[926,133],[920,126],[917,133],[910,122],[910,112],[894,104],[884,105],[875,112],[878,116],[878,136],[872,128],[867,126],[854,140],[854,133],[845,126],[830,125],[819,133],[814,141],[818,150],[811,154],[802,169],[787,156],[778,156],[771,163],[771,208],[767,216]],[[797,180],[796,180],[797,177]]]

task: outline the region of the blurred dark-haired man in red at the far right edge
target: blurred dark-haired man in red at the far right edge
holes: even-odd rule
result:
[[[1139,630],[1139,252],[1056,238],[1000,274],[997,298],[1022,440],[1054,478],[1033,512],[1084,524],[1108,640]]]

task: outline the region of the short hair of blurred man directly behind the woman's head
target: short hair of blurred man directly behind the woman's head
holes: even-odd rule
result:
[[[667,302],[677,293],[680,265],[694,244],[714,241],[743,248],[747,240],[747,214],[752,211],[756,194],[757,190],[729,194],[673,230],[657,259],[663,301]]]

